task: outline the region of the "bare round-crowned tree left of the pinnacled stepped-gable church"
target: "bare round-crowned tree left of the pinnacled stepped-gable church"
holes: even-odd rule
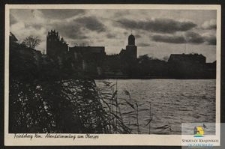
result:
[[[30,35],[24,39],[22,44],[24,44],[25,46],[27,46],[29,48],[34,49],[37,45],[40,44],[40,42],[41,42],[41,40],[39,39],[38,36]]]

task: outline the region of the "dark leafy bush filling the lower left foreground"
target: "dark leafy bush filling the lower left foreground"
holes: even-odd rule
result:
[[[129,133],[102,106],[93,80],[10,82],[10,132]]]

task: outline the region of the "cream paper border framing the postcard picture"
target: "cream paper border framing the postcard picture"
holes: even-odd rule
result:
[[[174,10],[217,10],[217,74],[216,74],[216,123],[220,123],[220,80],[221,80],[221,7],[220,5],[153,5],[153,4],[117,4],[117,5],[6,5],[5,6],[5,127],[4,144],[6,146],[86,146],[86,145],[160,145],[180,146],[181,135],[137,135],[137,134],[99,134],[99,139],[14,139],[8,133],[9,116],[9,10],[10,9],[174,9]],[[216,130],[220,135],[220,128]],[[45,134],[42,134],[45,136]]]

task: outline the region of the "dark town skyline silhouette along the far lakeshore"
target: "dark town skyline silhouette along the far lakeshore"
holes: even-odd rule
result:
[[[33,53],[33,56],[36,57],[35,60],[42,59],[43,61],[43,58],[40,57],[44,57],[45,64],[51,63],[46,69],[55,68],[55,71],[47,72],[51,74],[55,72],[61,77],[94,79],[216,78],[216,61],[206,63],[206,57],[202,54],[171,54],[168,61],[151,58],[148,55],[137,57],[135,36],[132,34],[128,37],[126,49],[122,49],[119,54],[107,55],[103,46],[69,47],[66,41],[60,38],[57,31],[51,30],[47,34],[46,52],[46,55],[42,55],[30,48],[24,50],[23,53],[24,56]]]

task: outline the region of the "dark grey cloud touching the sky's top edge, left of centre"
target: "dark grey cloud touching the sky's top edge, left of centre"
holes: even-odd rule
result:
[[[40,11],[49,19],[66,19],[85,14],[83,9],[41,9]]]

